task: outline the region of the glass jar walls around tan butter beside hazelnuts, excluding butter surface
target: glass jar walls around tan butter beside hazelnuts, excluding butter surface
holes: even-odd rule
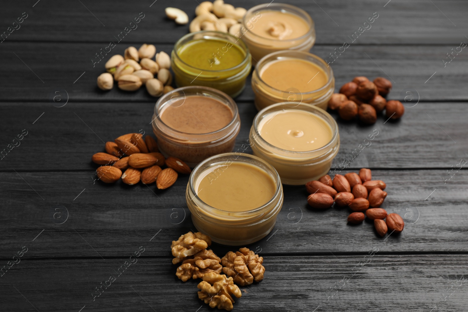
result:
[[[269,62],[282,58],[297,58],[313,63],[328,76],[327,83],[323,87],[310,92],[300,92],[295,88],[280,90],[266,84],[261,78],[261,71],[268,66]],[[278,51],[265,56],[255,66],[255,71],[252,73],[252,89],[255,94],[255,107],[258,110],[279,102],[309,103],[326,110],[328,102],[335,92],[335,77],[331,67],[322,58],[314,54],[303,51]]]

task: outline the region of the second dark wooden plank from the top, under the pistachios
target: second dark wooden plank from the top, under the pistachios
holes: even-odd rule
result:
[[[123,53],[127,44],[119,44],[112,53]],[[105,56],[100,63],[92,59],[102,44],[60,45],[50,43],[4,42],[0,57],[5,60],[4,72],[12,73],[0,86],[2,101],[45,101],[55,106],[58,101],[57,91],[62,99],[69,101],[104,101],[104,102],[156,102],[144,88],[137,92],[125,92],[116,86],[109,92],[96,87],[96,79],[104,72],[104,63],[110,58]],[[158,44],[158,51],[170,53],[172,44]],[[335,53],[334,45],[315,46],[312,53],[332,62],[330,53]],[[421,101],[468,100],[464,81],[468,67],[468,53],[459,53],[446,64],[442,58],[454,46],[438,45],[351,45],[331,63],[336,79],[336,92],[356,75],[366,75],[371,79],[383,76],[394,81],[389,99],[404,100],[412,91]],[[54,56],[51,58],[51,56]],[[437,72],[437,73],[435,73]],[[14,73],[14,74],[13,74]],[[387,76],[388,75],[388,76]],[[64,91],[66,90],[66,91]],[[414,91],[416,90],[416,91]],[[236,101],[253,101],[254,94],[250,77],[244,92]]]

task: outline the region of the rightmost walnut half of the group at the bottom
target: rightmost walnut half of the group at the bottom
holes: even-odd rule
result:
[[[241,248],[233,253],[228,252],[222,259],[223,272],[234,279],[234,283],[241,286],[250,285],[263,280],[265,267],[263,257],[259,257],[249,248]]]

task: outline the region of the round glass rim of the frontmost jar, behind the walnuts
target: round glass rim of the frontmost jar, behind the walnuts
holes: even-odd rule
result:
[[[197,175],[197,177],[201,174],[198,173],[199,170],[202,170],[201,167],[203,165],[205,165],[206,163],[208,162],[215,162],[216,159],[222,159],[224,157],[229,157],[229,156],[235,156],[234,158],[234,161],[240,161],[242,162],[241,160],[239,160],[239,157],[246,157],[246,158],[249,158],[249,159],[252,159],[252,160],[256,160],[260,163],[262,163],[262,165],[264,165],[265,167],[267,167],[269,170],[270,170],[270,173],[273,175],[273,179],[275,180],[275,183],[276,183],[276,190],[275,190],[275,193],[273,194],[273,196],[271,196],[271,199],[267,202],[267,203],[264,203],[262,206],[260,207],[257,207],[257,208],[254,208],[254,209],[251,209],[251,210],[245,210],[245,211],[228,211],[228,210],[222,210],[222,209],[219,209],[219,208],[215,208],[215,207],[212,207],[210,206],[208,203],[205,203],[198,195],[197,195],[197,192],[195,191],[195,175]],[[208,170],[208,169],[204,169],[203,171],[205,170]],[[203,172],[202,171],[202,172]],[[246,217],[250,214],[253,214],[253,213],[256,213],[256,212],[259,212],[259,211],[262,211],[264,210],[265,208],[268,208],[271,203],[273,203],[275,201],[275,199],[281,194],[282,192],[282,184],[281,184],[281,178],[279,177],[279,174],[278,172],[276,171],[276,169],[271,166],[267,161],[261,159],[260,157],[257,157],[257,156],[254,156],[254,155],[251,155],[251,154],[247,154],[247,153],[240,153],[240,152],[229,152],[229,153],[222,153],[222,154],[217,154],[217,155],[213,155],[211,157],[208,157],[207,159],[203,160],[202,162],[200,162],[195,168],[193,168],[192,170],[192,173],[190,174],[190,177],[189,177],[189,184],[188,184],[189,188],[190,188],[190,191],[195,194],[193,197],[192,197],[192,200],[193,198],[196,198],[198,201],[200,201],[201,203],[205,204],[207,207],[209,207],[210,210],[212,210],[213,212],[219,212],[219,213],[226,213],[228,212],[229,215],[231,216],[237,216],[237,217]],[[200,209],[206,211],[206,209],[204,207],[200,207],[198,206]]]

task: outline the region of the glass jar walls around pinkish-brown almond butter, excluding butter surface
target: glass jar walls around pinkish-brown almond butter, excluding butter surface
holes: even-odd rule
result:
[[[202,95],[224,103],[232,111],[233,118],[224,128],[209,133],[186,133],[173,129],[161,120],[161,112],[166,105],[183,105],[180,100],[186,96]],[[182,87],[161,96],[154,106],[153,132],[158,139],[160,152],[183,160],[190,167],[200,161],[224,152],[232,152],[235,138],[241,128],[239,110],[234,100],[224,92],[209,87]]]

